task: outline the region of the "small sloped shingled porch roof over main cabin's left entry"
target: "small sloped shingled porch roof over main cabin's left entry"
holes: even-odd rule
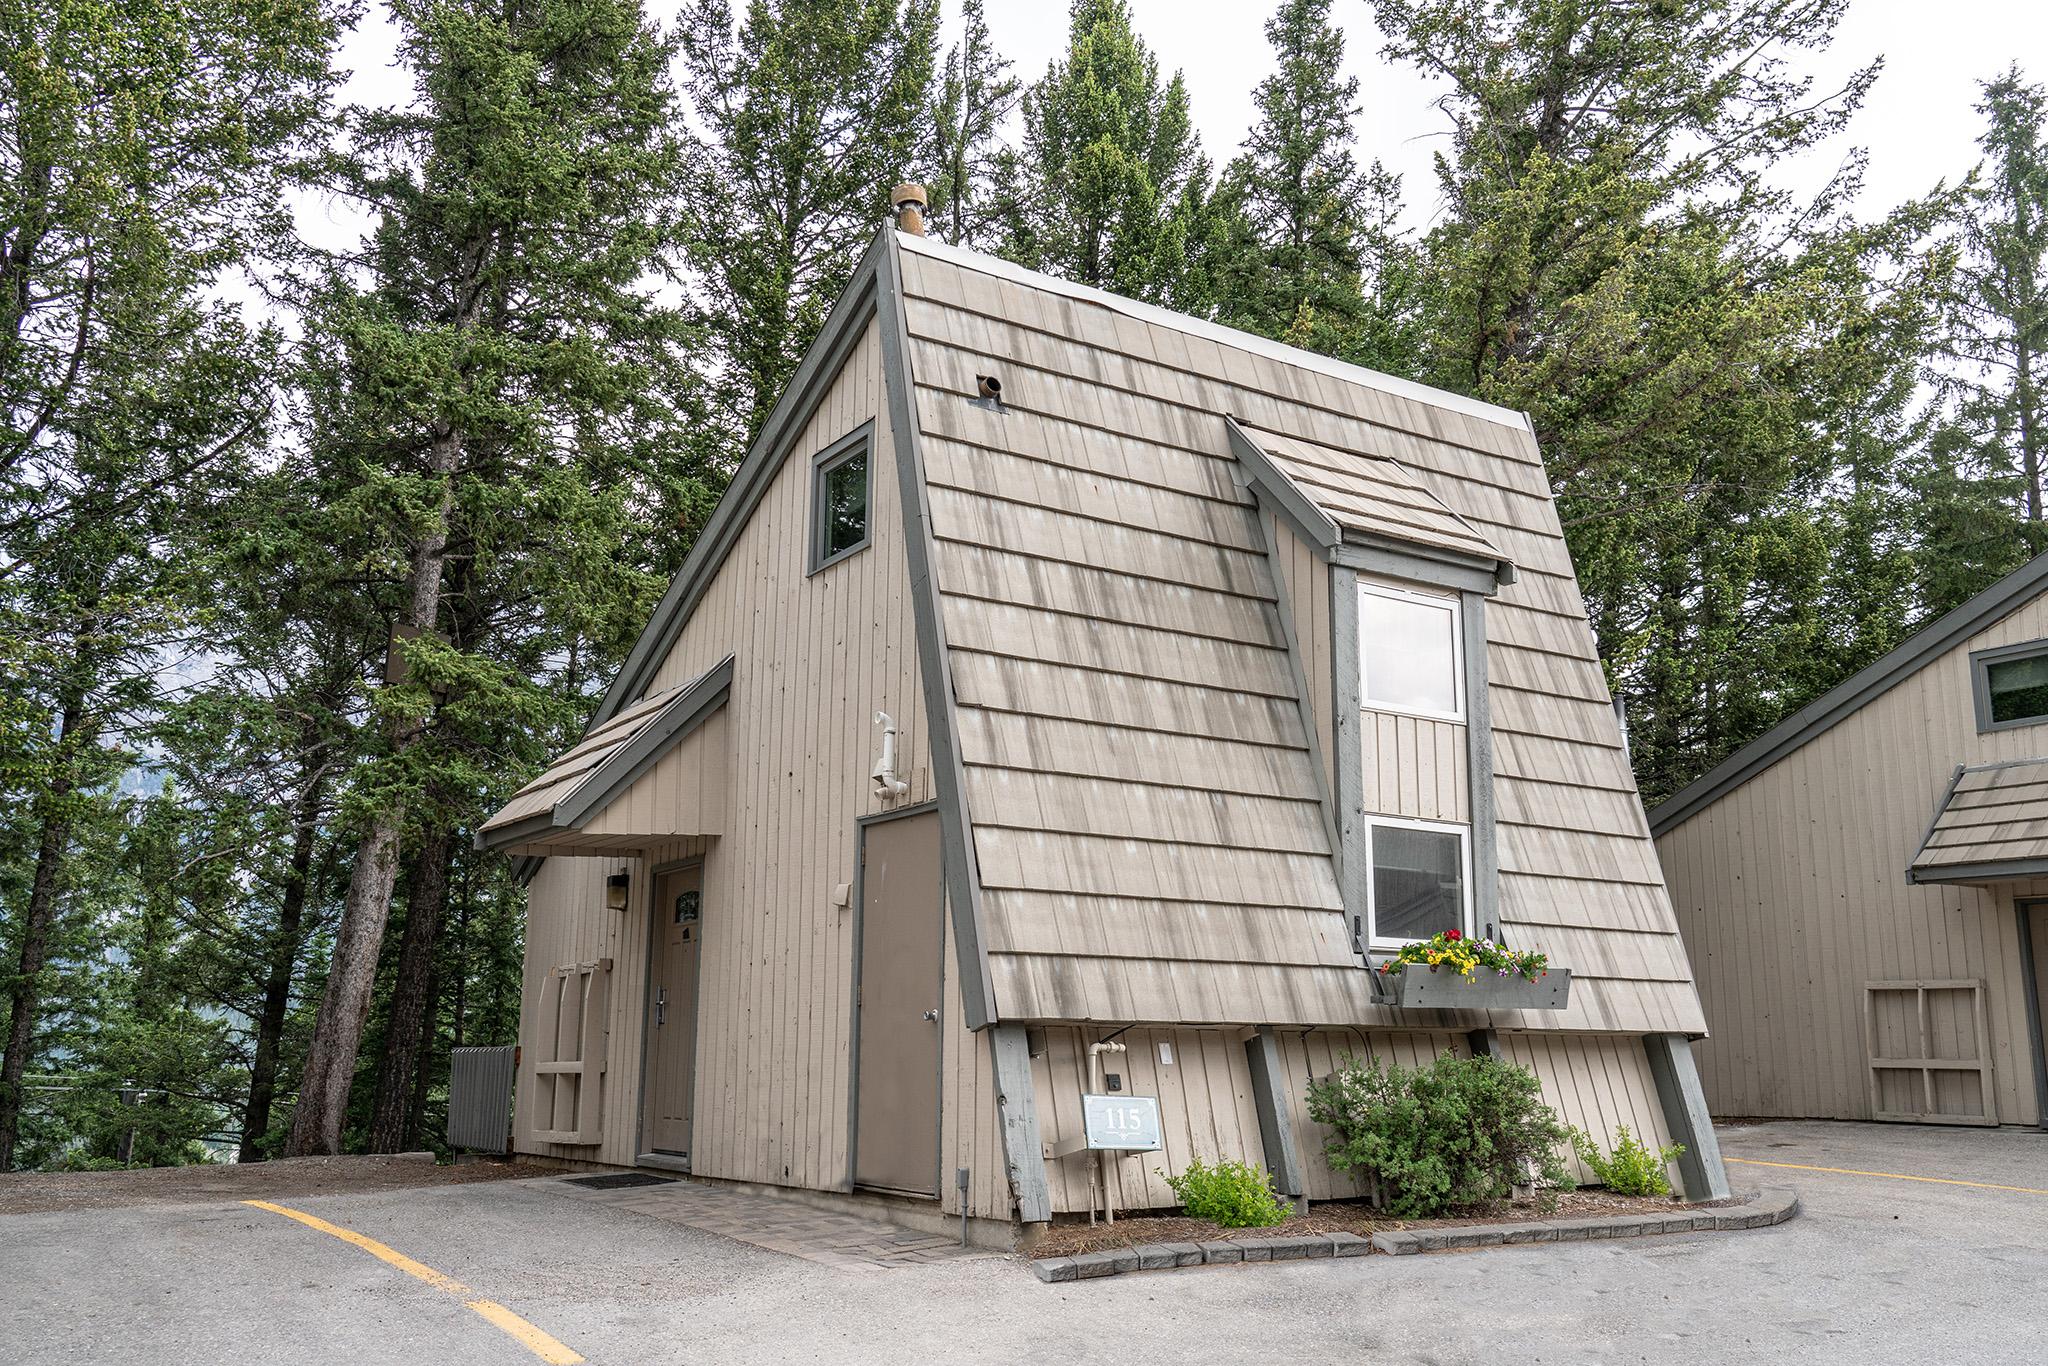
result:
[[[483,821],[477,829],[477,848],[561,844],[563,831],[584,829],[635,778],[723,707],[731,686],[733,657],[727,655],[690,684],[641,698],[594,727]]]

